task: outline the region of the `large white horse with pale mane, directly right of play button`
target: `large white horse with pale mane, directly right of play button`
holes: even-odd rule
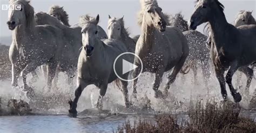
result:
[[[187,39],[176,27],[166,27],[167,17],[162,13],[156,0],[140,0],[142,9],[138,16],[138,22],[142,28],[142,34],[136,44],[135,54],[143,62],[143,72],[156,73],[153,90],[155,97],[162,96],[158,90],[164,72],[171,70],[172,74],[168,77],[165,91],[170,88],[177,74],[183,67],[189,53]],[[140,66],[140,62],[134,59],[134,64]],[[133,77],[137,77],[142,68],[136,68]],[[136,84],[138,79],[133,82],[133,93],[137,93]]]

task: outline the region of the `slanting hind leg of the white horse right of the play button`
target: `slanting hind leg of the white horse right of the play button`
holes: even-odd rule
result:
[[[165,85],[165,94],[166,94],[166,96],[168,95],[168,90],[170,88],[170,85],[175,81],[176,76],[178,75],[179,71],[183,67],[186,58],[187,58],[187,56],[182,56],[180,58],[180,61],[174,67],[174,69],[172,71],[172,74],[168,76],[168,82]]]

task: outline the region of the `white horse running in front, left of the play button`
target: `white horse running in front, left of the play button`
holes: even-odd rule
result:
[[[77,115],[78,99],[88,85],[96,85],[100,91],[97,107],[102,108],[102,99],[106,94],[107,84],[117,79],[113,70],[113,64],[116,57],[127,52],[125,44],[118,40],[107,39],[100,40],[97,38],[99,15],[96,18],[83,16],[80,18],[82,28],[83,48],[78,59],[78,87],[75,92],[75,99],[69,101],[71,116]],[[124,56],[126,60],[129,57]],[[122,60],[116,62],[116,70],[122,70]],[[118,72],[119,73],[119,72]],[[126,73],[122,78],[128,77]],[[121,81],[122,92],[124,94],[125,106],[129,107],[127,82]]]

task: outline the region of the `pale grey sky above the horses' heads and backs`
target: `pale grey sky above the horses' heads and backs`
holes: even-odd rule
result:
[[[0,0],[2,4],[8,4],[9,0]],[[219,0],[225,6],[227,21],[233,23],[238,11],[256,12],[256,0]],[[184,18],[188,20],[194,10],[194,0],[158,0],[159,6],[167,14],[183,13]],[[35,12],[48,12],[51,5],[64,6],[64,10],[69,14],[70,24],[78,23],[79,17],[84,14],[96,16],[99,14],[100,23],[105,31],[107,27],[108,15],[111,17],[124,16],[125,26],[129,27],[131,36],[140,34],[140,28],[137,25],[137,13],[140,8],[139,0],[32,0],[31,5]],[[8,20],[8,11],[0,11],[0,37],[11,36],[11,31],[6,25]],[[198,31],[203,31],[203,26],[199,26]],[[107,32],[106,32],[107,33]],[[1,41],[1,40],[0,40]]]

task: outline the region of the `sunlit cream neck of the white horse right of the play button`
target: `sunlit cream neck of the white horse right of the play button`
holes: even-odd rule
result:
[[[140,38],[142,42],[140,42],[142,45],[142,53],[150,53],[150,50],[152,48],[152,45],[154,43],[154,34],[156,32],[156,28],[154,26],[150,26],[146,23],[145,16],[143,17],[142,22],[142,34],[140,35]]]

